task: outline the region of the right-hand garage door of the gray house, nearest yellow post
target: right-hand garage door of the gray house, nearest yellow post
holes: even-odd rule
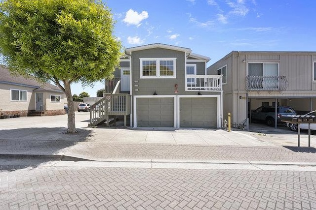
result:
[[[180,127],[217,127],[217,98],[180,98]]]

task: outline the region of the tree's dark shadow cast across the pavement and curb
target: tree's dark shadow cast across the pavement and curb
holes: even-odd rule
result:
[[[87,141],[92,133],[85,129],[77,131],[67,134],[65,127],[0,130],[0,171],[35,168],[49,160],[63,159],[64,151]]]

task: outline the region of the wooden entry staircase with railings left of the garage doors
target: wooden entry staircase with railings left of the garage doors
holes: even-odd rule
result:
[[[124,116],[124,126],[126,126],[126,116],[131,114],[131,95],[105,94],[102,99],[90,106],[89,126],[97,126],[103,123],[110,124],[110,119],[116,116]]]

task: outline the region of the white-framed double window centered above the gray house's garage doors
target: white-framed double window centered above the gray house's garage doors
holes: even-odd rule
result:
[[[176,78],[176,59],[140,59],[140,78]]]

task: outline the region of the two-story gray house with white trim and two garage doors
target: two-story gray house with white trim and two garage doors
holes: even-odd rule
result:
[[[92,116],[90,125],[123,110],[132,127],[221,127],[222,76],[206,74],[209,60],[189,48],[160,43],[125,49],[115,78],[105,82],[106,112],[112,114]]]

